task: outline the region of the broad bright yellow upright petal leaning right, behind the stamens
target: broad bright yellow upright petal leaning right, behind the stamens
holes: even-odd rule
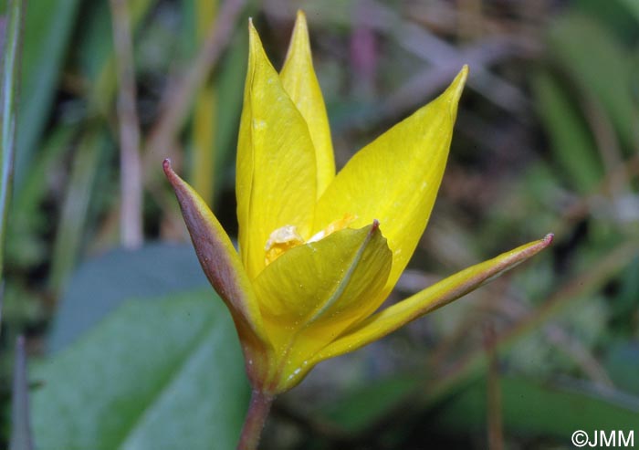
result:
[[[315,230],[344,214],[357,227],[379,219],[393,251],[393,268],[377,309],[408,264],[428,222],[442,180],[466,81],[465,66],[439,98],[357,152],[319,199]]]

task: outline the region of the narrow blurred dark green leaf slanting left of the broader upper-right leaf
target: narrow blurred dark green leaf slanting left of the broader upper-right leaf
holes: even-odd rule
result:
[[[549,72],[539,71],[532,81],[539,119],[549,134],[561,172],[578,191],[591,192],[603,171],[579,105]]]

